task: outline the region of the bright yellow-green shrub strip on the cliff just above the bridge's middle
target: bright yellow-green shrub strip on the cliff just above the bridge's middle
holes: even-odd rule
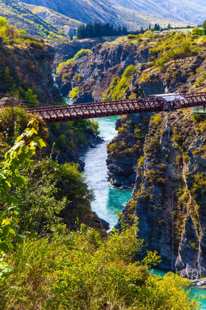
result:
[[[117,100],[124,97],[124,93],[130,84],[132,76],[136,73],[136,66],[128,66],[121,78],[116,76],[110,84],[109,89],[106,91],[108,95],[104,94],[104,100],[109,101],[111,98]]]

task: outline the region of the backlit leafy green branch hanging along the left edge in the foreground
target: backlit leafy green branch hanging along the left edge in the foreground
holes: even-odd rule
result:
[[[13,249],[12,241],[24,239],[16,232],[18,228],[17,198],[12,195],[11,187],[19,187],[27,182],[27,178],[20,174],[21,165],[31,169],[33,165],[30,158],[35,154],[36,147],[46,146],[37,136],[37,132],[38,123],[30,121],[26,131],[17,138],[14,146],[5,154],[5,162],[0,170],[0,201],[7,205],[6,211],[4,209],[0,211],[0,285],[5,283],[12,270],[4,261],[6,253]]]

